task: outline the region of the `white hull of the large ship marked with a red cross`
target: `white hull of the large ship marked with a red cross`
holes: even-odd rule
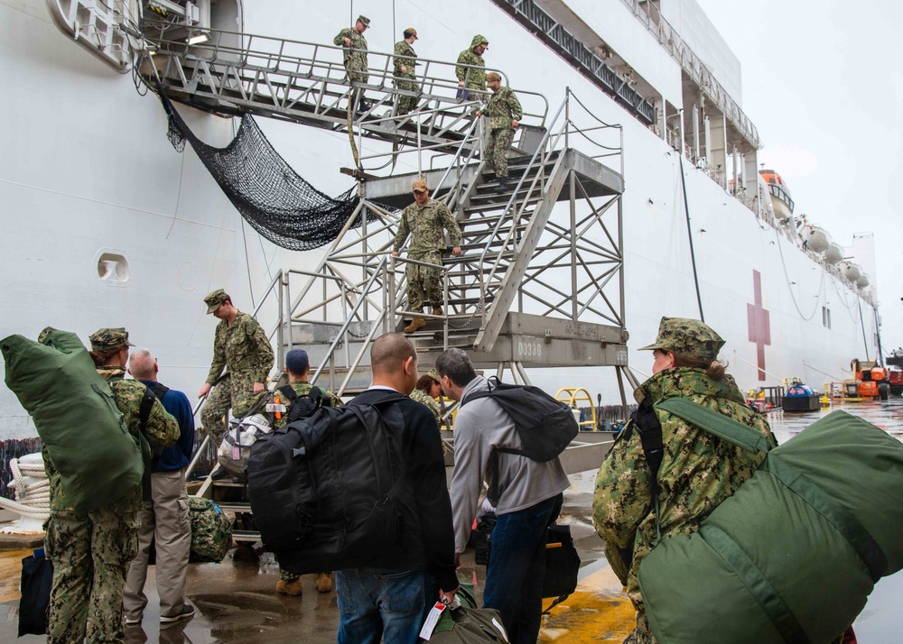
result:
[[[215,32],[236,34],[231,43],[218,41],[223,50],[231,49],[217,55],[232,56],[237,69],[247,62],[242,51],[256,51],[253,39],[242,33],[262,34],[261,40],[329,43],[349,22],[349,5],[339,4],[261,8],[219,0],[150,5],[188,16],[184,32],[167,37],[184,40],[186,55],[197,57],[192,69],[204,64],[198,54],[209,53],[204,45],[215,41]],[[16,127],[7,133],[7,153],[0,161],[0,198],[7,216],[22,220],[4,236],[2,320],[8,332],[30,336],[46,325],[83,336],[101,326],[126,326],[139,345],[154,349],[161,379],[191,394],[209,366],[213,335],[200,303],[203,295],[223,286],[239,308],[259,308],[265,325],[274,327],[284,309],[275,297],[264,299],[267,285],[272,290],[281,270],[315,271],[323,252],[293,253],[266,241],[239,216],[198,157],[172,150],[159,101],[139,96],[131,78],[119,73],[141,73],[139,60],[150,65],[156,58],[149,50],[135,53],[146,47],[140,38],[142,16],[156,22],[166,17],[150,5],[0,0],[2,69],[9,75],[7,85],[22,89],[2,107],[5,122]],[[173,6],[167,10],[166,5]],[[394,31],[393,9],[398,14]],[[668,12],[677,10],[689,32],[708,33],[711,46],[694,41],[691,49],[689,36],[682,39],[667,21]],[[391,51],[401,27],[417,27],[418,53],[433,61],[432,69],[418,73],[435,79],[436,97],[445,96],[443,83],[453,82],[449,62],[473,33],[482,32],[490,41],[488,67],[501,70],[512,87],[533,92],[524,136],[548,132],[549,106],[562,105],[565,97],[582,104],[570,102],[573,111],[567,117],[575,130],[589,131],[594,118],[620,125],[623,158],[616,170],[623,181],[618,248],[624,315],[617,326],[636,338],[628,348],[655,336],[662,315],[698,317],[702,308],[706,321],[728,340],[723,356],[741,385],[779,382],[788,373],[821,382],[822,374],[842,373],[851,355],[875,354],[869,292],[831,268],[822,254],[804,248],[792,216],[782,220],[768,208],[770,198],[759,181],[759,133],[740,109],[739,63],[709,32],[711,25],[693,0],[474,0],[453,12],[440,2],[386,1],[368,5],[367,11],[373,21],[368,41],[377,54],[371,58],[380,65],[387,65],[389,56],[378,52]],[[59,29],[69,30],[70,39]],[[700,47],[704,51],[697,51]],[[330,46],[306,60],[324,61],[332,70],[341,63],[340,52]],[[718,64],[712,70],[702,60]],[[301,71],[306,70],[299,76]],[[374,69],[374,78],[380,71],[390,85],[391,70]],[[204,83],[190,87],[191,76],[184,76],[182,98],[190,102]],[[226,86],[213,79],[207,87]],[[279,96],[278,90],[270,95]],[[356,159],[348,127],[341,124],[345,103],[340,96],[333,97],[334,105],[327,94],[319,103],[308,98],[322,108],[315,115],[318,124],[285,122],[298,120],[285,115],[282,121],[257,122],[285,161],[328,195],[353,187],[353,179],[340,169],[356,169],[361,160],[368,174],[384,178],[450,167],[456,152],[430,147],[447,145],[450,137],[439,135],[442,127],[446,134],[466,132],[465,121],[453,123],[457,117],[451,112],[439,124],[439,111],[449,110],[437,110],[432,131],[413,123],[402,126],[401,149],[407,152],[393,156],[397,142],[381,137],[376,123],[366,136],[361,134],[366,126],[356,124]],[[216,111],[241,111],[236,100],[228,103],[223,97]],[[381,108],[391,113],[391,102]],[[210,145],[225,147],[237,131],[237,119],[178,109],[191,131]],[[387,118],[385,111],[374,116]],[[330,118],[332,125],[324,126]],[[381,127],[390,125],[397,134],[397,124]],[[600,144],[609,145],[589,135],[568,147],[591,158],[604,152]],[[395,163],[390,170],[377,167],[388,159]],[[404,205],[400,195],[398,190],[392,203],[384,204],[386,213],[390,206]],[[586,241],[601,239],[593,235],[603,233],[588,231]],[[567,283],[559,286],[569,290]],[[470,315],[477,302],[472,305],[461,313]],[[545,313],[535,304],[525,306],[525,313]],[[579,319],[586,312],[549,315]],[[579,356],[573,362],[585,363]],[[628,362],[642,373],[648,359],[631,352]],[[531,377],[556,389],[561,375],[536,368]],[[613,373],[586,370],[580,380],[611,401],[618,397]],[[12,394],[0,391],[0,438],[29,434],[33,429]]]

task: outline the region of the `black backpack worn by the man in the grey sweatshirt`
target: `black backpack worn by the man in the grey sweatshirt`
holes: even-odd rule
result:
[[[523,449],[496,447],[496,452],[526,456],[545,463],[560,455],[580,431],[567,403],[555,400],[539,387],[499,382],[489,378],[489,391],[474,391],[461,400],[461,407],[470,400],[492,398],[514,421]]]

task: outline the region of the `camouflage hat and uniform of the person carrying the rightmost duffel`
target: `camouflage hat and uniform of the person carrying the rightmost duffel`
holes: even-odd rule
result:
[[[724,343],[705,329],[711,331],[695,320],[663,318],[659,342],[644,348],[713,360]],[[688,346],[692,348],[687,349]],[[703,369],[666,369],[640,385],[634,397],[638,402],[648,398],[653,404],[686,398],[739,420],[765,436],[771,435],[766,419],[749,408],[729,375],[714,381]],[[721,501],[752,476],[765,455],[744,452],[667,412],[656,409],[656,416],[661,422],[664,443],[658,473],[661,538],[691,534]],[[637,577],[643,557],[658,543],[652,483],[639,433],[631,423],[600,467],[592,510],[596,531],[607,543],[606,557],[616,572],[619,568],[626,572],[627,593],[637,610],[637,629],[625,642],[638,644],[656,641],[649,630]],[[633,559],[628,570],[624,570],[626,566],[619,561],[614,546],[632,548]],[[678,582],[675,580],[675,584]]]

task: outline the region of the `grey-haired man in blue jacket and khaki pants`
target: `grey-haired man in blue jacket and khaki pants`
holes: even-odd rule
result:
[[[185,574],[191,550],[191,518],[185,467],[191,462],[194,447],[194,416],[191,402],[182,391],[168,389],[157,382],[157,361],[147,349],[138,349],[128,361],[128,373],[144,383],[179,422],[182,436],[178,442],[154,451],[150,476],[145,474],[144,510],[139,513],[138,554],[126,577],[123,604],[126,626],[141,623],[147,596],[144,580],[151,544],[156,546],[156,585],[160,595],[160,621],[163,624],[191,619],[194,608],[185,603]],[[148,478],[150,490],[148,490]]]

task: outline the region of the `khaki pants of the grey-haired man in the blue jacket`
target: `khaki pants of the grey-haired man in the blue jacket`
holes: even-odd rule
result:
[[[141,520],[138,554],[128,569],[123,593],[126,619],[140,620],[147,605],[144,580],[152,542],[156,547],[160,614],[177,615],[185,603],[185,574],[191,550],[191,518],[184,469],[151,474],[151,500],[144,501],[144,510],[138,517]]]

